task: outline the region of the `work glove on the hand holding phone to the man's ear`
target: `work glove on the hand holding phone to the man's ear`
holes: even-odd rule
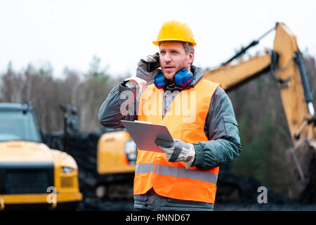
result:
[[[133,75],[125,81],[131,80],[131,82],[136,82],[136,84],[140,87],[140,89],[143,88],[147,84],[147,82],[150,82],[154,77],[157,75],[157,68],[160,67],[159,62],[159,53],[154,53],[154,55],[145,56],[144,58],[140,59],[140,61],[137,64],[136,69],[136,75]]]

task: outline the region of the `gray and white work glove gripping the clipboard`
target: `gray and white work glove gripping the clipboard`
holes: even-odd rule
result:
[[[185,168],[189,169],[195,160],[195,148],[191,143],[185,143],[178,139],[173,141],[156,139],[154,142],[164,150],[169,162],[185,162]]]

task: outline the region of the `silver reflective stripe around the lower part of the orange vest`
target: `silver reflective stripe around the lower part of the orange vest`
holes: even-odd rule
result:
[[[135,174],[141,173],[153,173],[154,162],[151,163],[140,163],[136,165]],[[195,169],[185,169],[183,167],[171,167],[166,165],[157,165],[155,174],[165,176],[175,176],[187,179],[195,179],[199,181],[206,181],[216,184],[217,175],[209,172],[203,172]]]

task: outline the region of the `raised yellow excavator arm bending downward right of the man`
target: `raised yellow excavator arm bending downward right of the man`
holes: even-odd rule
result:
[[[316,119],[312,94],[296,36],[283,23],[277,23],[273,30],[275,41],[272,51],[265,51],[261,56],[234,64],[232,59],[240,56],[239,52],[220,67],[204,72],[204,78],[218,82],[225,91],[230,91],[265,72],[271,71],[274,74],[294,146],[291,153],[294,154],[296,168],[304,181],[305,175],[301,168],[303,162],[298,162],[295,154],[306,145],[316,150]],[[252,41],[246,49],[256,44],[258,40]],[[246,49],[242,49],[242,53]]]

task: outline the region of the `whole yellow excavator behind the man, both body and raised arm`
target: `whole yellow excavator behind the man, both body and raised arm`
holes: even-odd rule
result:
[[[274,48],[261,56],[250,57],[248,60],[235,62],[260,39],[275,30]],[[291,132],[293,148],[291,153],[300,177],[301,190],[311,178],[304,171],[300,157],[301,148],[316,149],[315,109],[312,103],[308,79],[303,65],[303,57],[298,49],[296,36],[287,25],[277,23],[275,27],[263,34],[259,39],[252,41],[249,46],[242,48],[239,53],[227,62],[213,70],[204,72],[204,78],[222,84],[226,92],[254,79],[266,72],[275,75],[279,86],[282,103],[287,116],[287,124]],[[106,133],[98,143],[97,167],[102,175],[133,174],[135,161],[129,160],[129,154],[136,158],[136,146],[126,131]],[[133,185],[130,182],[131,186]],[[114,188],[112,188],[114,190]],[[112,191],[101,185],[96,189],[98,197],[111,195]]]

